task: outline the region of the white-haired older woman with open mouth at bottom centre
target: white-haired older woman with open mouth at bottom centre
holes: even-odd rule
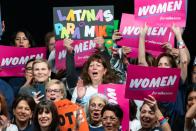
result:
[[[87,104],[90,131],[103,131],[101,123],[101,110],[108,103],[107,97],[103,94],[93,95]]]

